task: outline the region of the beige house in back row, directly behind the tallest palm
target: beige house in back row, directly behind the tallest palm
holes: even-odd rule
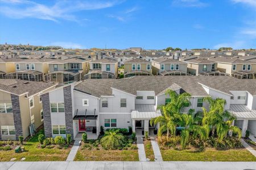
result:
[[[187,75],[187,63],[177,59],[160,57],[152,60],[154,75]]]

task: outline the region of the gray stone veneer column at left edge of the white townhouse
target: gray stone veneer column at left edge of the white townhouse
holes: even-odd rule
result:
[[[49,93],[42,95],[43,114],[44,114],[44,135],[52,137],[51,107],[49,103]]]

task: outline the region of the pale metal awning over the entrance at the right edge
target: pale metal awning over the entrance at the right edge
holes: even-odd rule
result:
[[[229,112],[234,114],[238,119],[249,118],[256,120],[256,110],[250,110],[246,105],[230,104]]]

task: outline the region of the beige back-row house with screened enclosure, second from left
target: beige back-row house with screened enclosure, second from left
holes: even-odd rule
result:
[[[33,58],[19,59],[15,62],[15,71],[5,75],[6,79],[20,79],[41,82],[48,73],[49,63],[52,59]]]

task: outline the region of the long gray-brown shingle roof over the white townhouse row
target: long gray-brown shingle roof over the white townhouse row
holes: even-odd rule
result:
[[[192,96],[208,95],[200,83],[230,95],[230,91],[248,91],[256,95],[256,79],[236,79],[229,76],[134,76],[125,79],[88,79],[78,84],[75,89],[96,97],[112,95],[111,88],[133,95],[137,95],[137,91],[155,91],[158,95],[174,83]]]

